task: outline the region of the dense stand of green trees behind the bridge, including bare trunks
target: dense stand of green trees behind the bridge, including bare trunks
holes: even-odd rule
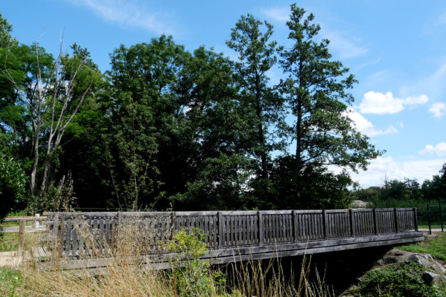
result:
[[[30,210],[346,207],[354,183],[327,166],[382,153],[347,116],[353,75],[295,5],[291,49],[248,14],[226,41],[236,61],[160,36],[116,48],[107,73],[79,45],[53,56],[0,20],[0,141],[28,178]]]

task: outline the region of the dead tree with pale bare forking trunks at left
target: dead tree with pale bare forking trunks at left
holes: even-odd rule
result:
[[[44,129],[49,130],[46,148],[43,152],[44,169],[40,183],[40,195],[45,194],[49,183],[51,172],[52,155],[61,146],[61,139],[66,128],[71,123],[81,107],[82,102],[91,91],[91,83],[86,86],[80,94],[75,94],[76,77],[84,67],[87,56],[79,56],[75,59],[63,59],[62,41],[59,55],[54,61],[52,68],[47,71],[45,77],[42,76],[43,66],[40,64],[38,41],[34,45],[36,54],[36,79],[33,86],[25,91],[13,79],[7,69],[1,72],[8,77],[19,93],[23,102],[29,106],[33,130],[33,168],[31,170],[31,195],[36,195],[37,174],[39,168],[40,141]],[[64,63],[65,62],[65,63]],[[69,110],[71,105],[74,108]],[[45,146],[44,146],[45,147]]]

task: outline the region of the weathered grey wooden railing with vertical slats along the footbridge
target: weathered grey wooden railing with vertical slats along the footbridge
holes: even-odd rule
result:
[[[357,208],[314,211],[192,211],[45,213],[53,247],[66,256],[88,256],[86,234],[107,248],[128,228],[137,228],[147,253],[175,231],[193,228],[208,234],[209,250],[286,245],[337,238],[417,231],[416,208]],[[131,227],[130,227],[131,226]],[[56,247],[56,245],[59,245]],[[158,248],[157,248],[158,247]]]

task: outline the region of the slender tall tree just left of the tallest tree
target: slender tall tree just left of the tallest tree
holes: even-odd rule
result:
[[[263,29],[264,26],[264,29]],[[272,25],[256,20],[252,15],[243,15],[231,31],[231,40],[226,41],[238,53],[237,80],[240,84],[240,104],[245,107],[247,121],[252,128],[245,131],[250,142],[247,151],[261,162],[261,176],[269,178],[268,161],[275,148],[274,138],[268,131],[279,118],[281,101],[268,86],[268,70],[275,65],[275,47],[270,40]]]

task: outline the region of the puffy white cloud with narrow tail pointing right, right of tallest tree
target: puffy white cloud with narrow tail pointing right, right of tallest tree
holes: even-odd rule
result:
[[[397,114],[404,109],[405,105],[422,105],[428,101],[429,98],[424,94],[403,99],[394,98],[392,92],[383,94],[369,91],[364,94],[359,108],[364,114]]]

